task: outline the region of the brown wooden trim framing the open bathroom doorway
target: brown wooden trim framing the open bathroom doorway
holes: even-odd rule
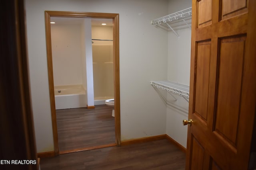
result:
[[[120,76],[119,76],[120,75],[119,73],[119,14],[95,13],[95,12],[65,12],[65,11],[45,11],[44,14],[45,14],[46,51],[47,51],[50,106],[51,106],[51,116],[52,116],[52,131],[53,131],[53,140],[54,140],[54,154],[59,155],[60,151],[59,151],[59,145],[58,145],[56,109],[55,109],[55,99],[54,99],[50,17],[113,19],[115,133],[116,133],[116,145],[120,146],[121,130],[120,130]]]

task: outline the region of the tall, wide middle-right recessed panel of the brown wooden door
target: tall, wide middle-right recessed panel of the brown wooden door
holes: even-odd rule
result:
[[[220,40],[214,130],[236,148],[246,37]]]

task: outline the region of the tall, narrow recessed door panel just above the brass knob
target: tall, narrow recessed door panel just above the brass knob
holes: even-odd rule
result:
[[[204,121],[207,121],[210,49],[210,41],[197,43],[194,113],[200,115]]]

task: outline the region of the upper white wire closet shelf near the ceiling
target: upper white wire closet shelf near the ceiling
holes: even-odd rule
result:
[[[173,31],[179,37],[175,30],[183,28],[191,29],[191,19],[192,7],[152,20],[151,24],[162,27],[167,31]]]

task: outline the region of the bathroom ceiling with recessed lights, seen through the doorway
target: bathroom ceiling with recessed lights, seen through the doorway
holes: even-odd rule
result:
[[[91,18],[92,26],[113,26],[112,19],[106,18]],[[84,18],[66,18],[66,17],[51,17],[51,22],[55,22],[58,25],[80,25]],[[107,25],[101,25],[101,23],[106,23]]]

